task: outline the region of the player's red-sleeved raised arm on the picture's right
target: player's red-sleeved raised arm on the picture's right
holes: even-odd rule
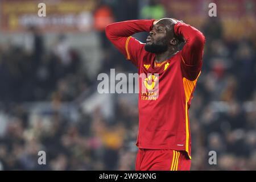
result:
[[[195,80],[201,71],[203,64],[203,49],[205,44],[204,35],[195,27],[182,22],[177,22],[174,26],[177,36],[185,39],[185,46],[181,50],[184,76],[189,80]]]

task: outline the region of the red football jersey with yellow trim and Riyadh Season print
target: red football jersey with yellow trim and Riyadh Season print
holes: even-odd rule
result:
[[[162,65],[155,66],[155,54],[131,37],[152,28],[154,20],[129,20],[109,24],[106,36],[138,68],[139,131],[137,146],[147,149],[186,151],[191,158],[188,109],[203,59],[204,35],[188,24],[175,24],[175,34],[185,46]]]

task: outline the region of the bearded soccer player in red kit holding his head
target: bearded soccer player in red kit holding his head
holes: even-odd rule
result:
[[[142,31],[149,32],[146,44],[131,36]],[[135,169],[189,170],[188,109],[201,73],[204,35],[176,19],[163,18],[109,24],[106,36],[138,68],[139,75],[147,75],[139,77]],[[181,42],[185,44],[179,51]]]

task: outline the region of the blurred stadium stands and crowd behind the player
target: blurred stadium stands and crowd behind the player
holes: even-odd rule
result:
[[[37,15],[40,2],[46,17]],[[210,2],[217,17],[208,16]],[[255,170],[255,10],[252,0],[1,0],[0,169],[133,170],[138,95],[98,94],[97,75],[136,69],[104,27],[167,16],[206,37],[189,110],[191,169]],[[40,150],[47,165],[38,164]],[[217,165],[208,163],[212,150]]]

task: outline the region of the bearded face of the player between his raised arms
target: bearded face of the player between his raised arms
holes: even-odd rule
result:
[[[154,24],[150,35],[146,39],[145,50],[152,53],[166,52],[170,45],[170,40],[174,36],[171,26],[174,26],[174,24],[168,19],[159,20],[159,22]]]

